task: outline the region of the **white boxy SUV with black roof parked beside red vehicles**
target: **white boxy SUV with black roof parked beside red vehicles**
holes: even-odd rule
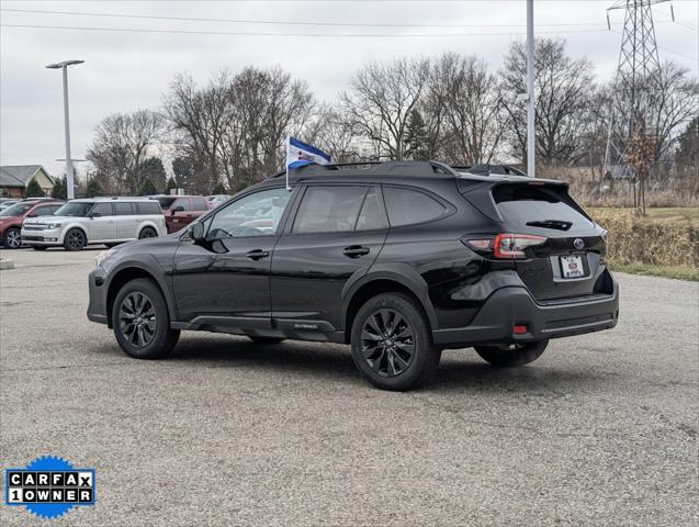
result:
[[[165,236],[165,216],[157,201],[137,198],[72,200],[53,216],[26,218],[22,242],[36,250],[64,246],[80,250],[88,245],[112,246],[132,239]]]

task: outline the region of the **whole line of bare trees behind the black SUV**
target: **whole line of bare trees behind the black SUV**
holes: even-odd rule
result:
[[[597,82],[593,64],[571,57],[563,40],[537,40],[534,60],[537,162],[585,165],[601,177],[616,87]],[[655,131],[654,161],[669,166],[697,114],[699,83],[675,63],[662,68],[644,119]],[[476,55],[455,53],[370,63],[332,102],[279,67],[224,71],[204,86],[179,74],[160,108],[102,120],[87,152],[89,180],[106,193],[233,192],[282,169],[286,135],[335,162],[522,162],[526,74],[522,42],[510,44],[495,71]]]

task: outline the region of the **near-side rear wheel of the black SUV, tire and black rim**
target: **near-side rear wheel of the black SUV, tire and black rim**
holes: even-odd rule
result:
[[[352,324],[351,345],[361,374],[392,391],[431,381],[441,355],[422,309],[402,293],[380,294],[362,305]]]

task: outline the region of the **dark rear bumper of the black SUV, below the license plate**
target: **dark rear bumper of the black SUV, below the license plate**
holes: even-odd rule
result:
[[[469,326],[437,329],[432,332],[432,340],[442,346],[545,340],[610,329],[618,317],[616,281],[610,295],[546,303],[537,302],[526,288],[507,287],[488,298]],[[527,333],[515,335],[515,326],[527,326]]]

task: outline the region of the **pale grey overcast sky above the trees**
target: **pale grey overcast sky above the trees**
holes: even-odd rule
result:
[[[567,40],[574,57],[587,56],[599,80],[616,67],[623,11],[606,8],[613,0],[537,0],[538,35]],[[653,9],[661,60],[673,59],[697,75],[699,23],[696,0],[674,0]],[[71,67],[70,110],[72,156],[82,158],[94,126],[110,113],[157,108],[178,71],[200,83],[221,69],[246,65],[279,65],[308,81],[322,99],[334,100],[357,68],[401,55],[437,56],[453,51],[477,54],[497,69],[512,38],[525,38],[526,2],[499,1],[12,1],[7,9],[119,13],[207,19],[342,22],[372,24],[470,24],[466,27],[298,26],[230,22],[176,21],[0,12],[4,24],[127,27],[204,32],[294,33],[295,36],[125,33],[55,29],[0,27],[0,162],[42,164],[63,173],[63,106],[60,72],[44,66],[68,58]],[[557,25],[561,24],[561,25]],[[589,24],[589,25],[578,25]],[[692,27],[688,27],[689,24]],[[332,36],[324,34],[449,34],[466,36]],[[473,35],[482,33],[481,35]],[[485,34],[484,34],[485,33]],[[670,53],[675,52],[675,53]],[[684,56],[683,56],[684,55]],[[694,58],[692,58],[694,57]]]

